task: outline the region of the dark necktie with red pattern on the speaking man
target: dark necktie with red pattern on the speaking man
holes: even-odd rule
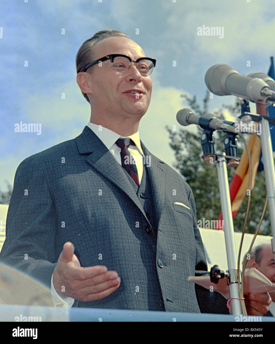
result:
[[[132,146],[136,146],[135,142],[129,137],[125,137],[124,139],[118,139],[116,141],[116,144],[121,149],[120,156],[122,167],[129,173],[130,177],[134,180],[137,186],[139,186],[137,166],[132,154],[128,151],[128,147],[130,146],[130,144]],[[125,157],[128,157],[128,159],[125,159]]]

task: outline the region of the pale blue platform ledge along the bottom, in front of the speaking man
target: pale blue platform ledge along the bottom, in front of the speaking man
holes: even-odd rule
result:
[[[28,318],[32,317],[32,318]],[[35,317],[35,319],[33,319]],[[270,316],[248,316],[249,322],[274,322]],[[236,315],[133,311],[100,308],[59,308],[0,304],[0,322],[236,322]],[[260,319],[261,318],[261,319]],[[240,316],[241,322],[248,319]]]

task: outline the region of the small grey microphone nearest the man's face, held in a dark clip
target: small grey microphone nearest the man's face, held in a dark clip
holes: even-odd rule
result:
[[[205,116],[198,116],[190,109],[181,109],[177,111],[176,119],[182,126],[188,126],[190,124],[202,125],[204,120],[209,120],[209,117],[213,117],[208,123],[209,128],[213,130],[226,130],[236,134],[235,127],[225,123],[224,121],[214,117],[213,114],[207,114]],[[235,123],[237,124],[237,123]]]

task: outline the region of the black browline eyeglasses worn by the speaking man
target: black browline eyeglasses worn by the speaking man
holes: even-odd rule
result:
[[[140,74],[142,75],[149,75],[152,73],[154,67],[156,66],[156,60],[154,58],[150,57],[140,57],[137,60],[132,60],[129,56],[121,55],[121,54],[110,54],[107,56],[104,56],[100,58],[99,60],[96,60],[94,62],[89,63],[83,70],[83,72],[86,72],[88,68],[91,66],[110,60],[113,64],[113,68],[115,71],[119,73],[124,73],[128,70],[130,63],[134,62],[137,65],[137,69]]]

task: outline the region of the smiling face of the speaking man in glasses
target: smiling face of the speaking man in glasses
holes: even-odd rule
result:
[[[95,45],[93,52],[92,61],[108,54],[123,54],[132,60],[146,56],[134,41],[119,36],[100,41]],[[91,68],[92,73],[88,78],[92,89],[92,109],[123,118],[141,118],[145,114],[152,92],[152,80],[149,75],[141,75],[134,63],[130,64],[125,73],[119,73],[113,69],[110,60],[103,61],[102,67],[96,64]],[[130,89],[140,89],[143,94],[137,97],[135,94],[125,93]]]

